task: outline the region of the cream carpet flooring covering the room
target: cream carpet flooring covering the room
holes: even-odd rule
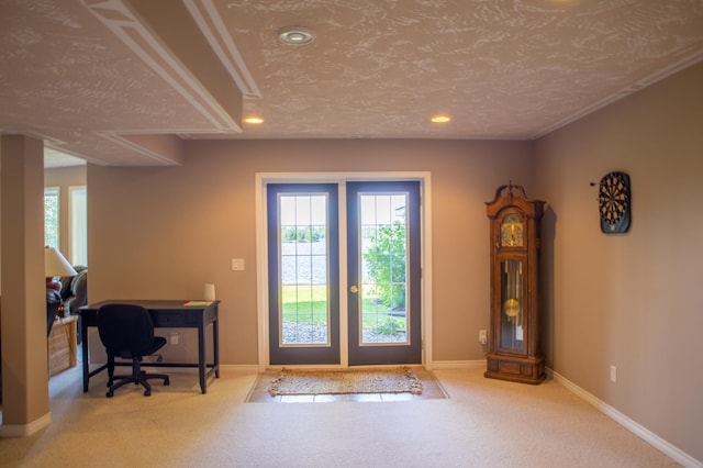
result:
[[[435,369],[449,398],[375,403],[246,403],[259,376],[223,368],[201,394],[194,369],[150,397],[105,378],[82,392],[79,368],[49,381],[52,423],[0,437],[3,468],[424,468],[679,466],[547,380],[525,386],[483,368]],[[266,391],[265,391],[266,393]]]

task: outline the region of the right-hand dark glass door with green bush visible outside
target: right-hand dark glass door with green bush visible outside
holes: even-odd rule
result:
[[[349,365],[420,364],[420,182],[347,183]]]

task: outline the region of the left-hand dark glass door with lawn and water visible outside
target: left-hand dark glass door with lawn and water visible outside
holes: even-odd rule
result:
[[[339,363],[336,185],[267,187],[270,364]]]

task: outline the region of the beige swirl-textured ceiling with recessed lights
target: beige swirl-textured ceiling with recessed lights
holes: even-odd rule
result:
[[[701,0],[0,0],[0,132],[107,165],[189,138],[531,140],[701,59]]]

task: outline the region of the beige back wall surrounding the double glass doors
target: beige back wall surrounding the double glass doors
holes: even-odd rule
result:
[[[489,321],[484,202],[509,180],[532,182],[531,144],[453,141],[190,142],[180,167],[90,166],[91,301],[222,300],[225,364],[257,363],[255,174],[431,171],[434,359],[482,359]],[[246,269],[232,271],[231,259]],[[194,342],[167,353],[194,355]]]

